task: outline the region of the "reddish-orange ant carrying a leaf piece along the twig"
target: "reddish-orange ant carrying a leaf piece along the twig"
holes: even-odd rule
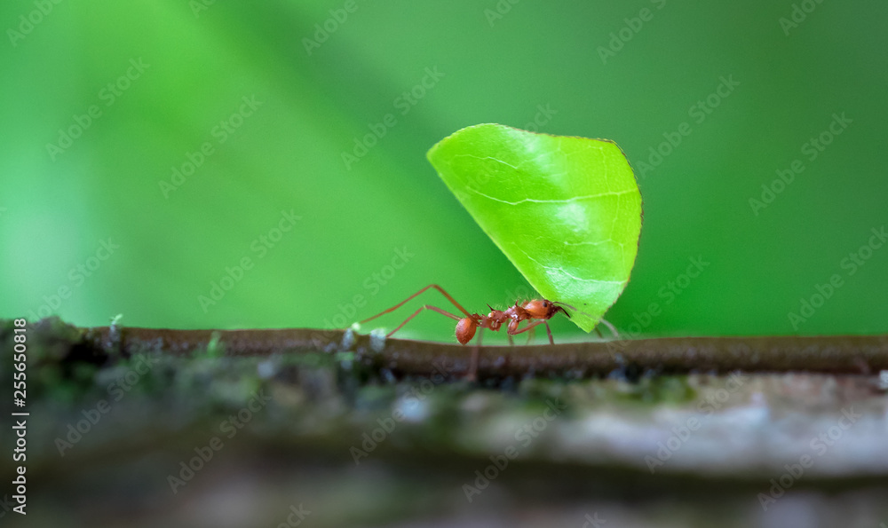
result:
[[[430,284],[429,286],[426,286],[425,288],[419,290],[418,292],[416,292],[412,296],[409,296],[408,298],[404,299],[400,303],[395,304],[394,306],[392,306],[392,308],[389,308],[388,310],[385,310],[385,311],[381,311],[381,312],[377,313],[376,315],[374,315],[373,317],[362,320],[361,324],[371,321],[373,319],[377,319],[377,317],[384,315],[386,313],[389,313],[391,311],[397,310],[398,308],[403,306],[405,303],[407,303],[409,300],[413,299],[416,296],[419,296],[420,294],[422,294],[425,290],[427,290],[429,288],[435,288],[438,291],[440,291],[441,295],[447,297],[448,301],[453,303],[453,305],[456,306],[456,308],[458,308],[459,311],[462,311],[465,317],[461,318],[459,316],[456,316],[456,315],[450,313],[449,311],[441,310],[437,306],[432,306],[431,304],[425,304],[424,306],[420,307],[418,310],[414,311],[410,317],[408,317],[407,319],[404,319],[404,322],[402,322],[400,325],[398,325],[398,327],[396,327],[394,330],[392,330],[391,332],[386,334],[385,337],[391,337],[395,332],[397,332],[402,327],[404,327],[404,325],[406,325],[410,321],[410,319],[413,319],[417,315],[419,315],[420,311],[432,310],[432,311],[437,311],[441,315],[445,315],[448,318],[454,319],[456,321],[456,341],[458,341],[460,344],[465,344],[465,343],[469,343],[470,341],[472,341],[472,337],[475,336],[475,332],[479,327],[482,330],[484,328],[489,328],[490,330],[493,330],[494,332],[498,332],[499,329],[501,327],[503,327],[503,324],[506,324],[506,323],[508,323],[508,325],[506,327],[506,333],[509,335],[509,344],[513,344],[512,340],[511,340],[512,335],[523,334],[523,333],[527,332],[528,330],[532,330],[535,327],[538,327],[541,324],[546,326],[546,333],[549,335],[549,343],[555,344],[555,340],[552,339],[551,329],[549,328],[549,322],[548,322],[549,319],[551,319],[559,311],[564,313],[567,316],[567,318],[569,319],[570,314],[567,313],[567,310],[565,310],[565,308],[567,307],[567,308],[570,308],[571,310],[576,310],[573,306],[569,306],[565,303],[553,303],[553,302],[546,300],[546,299],[534,299],[531,301],[525,301],[520,304],[518,303],[518,301],[516,301],[513,306],[510,306],[507,310],[504,310],[504,311],[503,310],[495,310],[492,306],[490,306],[490,304],[488,304],[488,308],[490,309],[490,313],[488,313],[488,315],[481,315],[478,313],[469,313],[469,311],[467,311],[465,308],[463,308],[463,306],[460,303],[457,303],[453,297],[451,297],[446,291],[444,291],[444,288],[441,288],[437,284]],[[519,325],[521,324],[521,321],[524,321],[524,320],[527,320],[527,321],[533,320],[534,322],[529,323],[527,325],[527,327],[521,328],[519,330]],[[475,378],[475,372],[476,372],[477,366],[478,366],[478,352],[479,352],[478,349],[480,347],[480,341],[481,341],[481,335],[479,334],[478,343],[475,344],[475,347],[472,350],[472,366],[470,367],[469,374],[467,376],[471,381],[473,381]],[[529,343],[530,340],[528,339],[527,341]]]

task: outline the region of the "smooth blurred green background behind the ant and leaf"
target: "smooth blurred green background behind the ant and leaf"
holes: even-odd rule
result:
[[[645,223],[607,314],[625,334],[888,331],[888,249],[860,250],[888,223],[886,15],[813,0],[4,2],[0,317],[333,327],[430,282],[470,310],[511,303],[526,281],[425,160],[499,122],[628,155]],[[671,152],[645,167],[652,148]],[[754,211],[795,160],[804,171]],[[709,264],[683,277],[692,258]],[[452,332],[430,313],[405,336]]]

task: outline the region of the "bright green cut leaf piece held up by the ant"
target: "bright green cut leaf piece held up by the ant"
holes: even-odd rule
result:
[[[591,332],[622,293],[641,233],[641,193],[619,146],[499,124],[459,130],[427,154],[512,264]],[[517,299],[516,299],[517,300]]]

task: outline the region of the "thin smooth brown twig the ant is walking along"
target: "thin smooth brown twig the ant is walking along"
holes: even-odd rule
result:
[[[309,328],[262,330],[170,330],[134,327],[80,329],[81,345],[93,353],[121,351],[189,354],[214,339],[228,356],[276,352],[354,351],[395,374],[432,375],[468,370],[470,350],[459,344],[388,339]],[[381,346],[380,346],[381,344]],[[888,369],[888,335],[666,337],[612,342],[531,346],[483,346],[479,376],[605,375],[614,369],[662,373],[791,372],[872,374]]]

